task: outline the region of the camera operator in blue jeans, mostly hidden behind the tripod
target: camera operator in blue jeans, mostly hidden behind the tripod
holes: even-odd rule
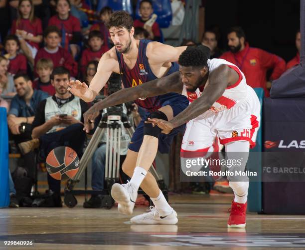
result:
[[[119,74],[113,73],[109,79],[108,83],[108,95],[121,89],[121,76]],[[126,114],[129,118],[129,121],[134,126],[138,126],[142,117],[138,112],[138,105],[136,103],[126,103],[123,105],[118,105],[119,107],[111,107],[103,110],[102,116],[110,114],[116,108],[122,108],[122,112]],[[141,112],[141,111],[140,111]],[[96,119],[96,123],[100,121],[100,117]],[[95,126],[96,127],[96,126]],[[105,174],[105,165],[106,165],[106,140],[107,134],[105,133],[101,139],[101,145],[96,149],[92,158],[92,179],[91,186],[93,190],[102,190],[104,189],[104,174]],[[122,134],[121,134],[121,162],[124,161],[128,145],[130,143],[130,136],[127,133],[125,127],[122,125]],[[124,173],[123,173],[124,174]],[[84,208],[99,208],[102,205],[102,196],[101,195],[92,195],[89,201],[84,203]]]

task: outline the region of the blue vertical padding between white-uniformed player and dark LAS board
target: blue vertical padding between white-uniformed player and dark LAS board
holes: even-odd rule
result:
[[[263,136],[262,136],[262,110],[264,100],[264,89],[254,88],[260,103],[261,103],[261,122],[260,128],[257,133],[256,146],[250,149],[250,152],[262,152],[263,151]],[[260,179],[262,179],[262,156],[258,153],[249,154],[247,170],[257,172]],[[262,211],[262,182],[250,182],[248,190],[248,211],[249,212],[261,212]]]

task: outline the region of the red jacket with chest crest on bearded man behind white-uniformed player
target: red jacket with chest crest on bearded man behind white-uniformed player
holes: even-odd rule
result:
[[[260,48],[252,48],[248,43],[242,51],[223,53],[219,58],[234,63],[245,74],[247,84],[253,88],[261,87],[265,95],[269,96],[266,88],[266,73],[273,69],[270,80],[278,79],[286,69],[286,62],[275,54],[269,53]]]

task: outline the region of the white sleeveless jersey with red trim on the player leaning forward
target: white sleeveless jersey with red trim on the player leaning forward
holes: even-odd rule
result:
[[[226,88],[222,96],[214,102],[214,104],[208,111],[204,113],[205,117],[209,117],[225,109],[230,109],[236,103],[239,103],[247,97],[248,85],[246,83],[245,75],[233,63],[228,62],[224,59],[208,59],[210,73],[213,72],[213,70],[219,67],[221,64],[227,64],[229,67],[233,68],[238,73],[239,79],[235,84]],[[204,87],[206,87],[208,84],[209,80],[207,80]],[[185,95],[190,102],[200,97],[201,94],[202,91],[200,91],[199,88],[197,88],[195,92],[188,92],[186,91],[186,88],[183,85],[182,95]]]

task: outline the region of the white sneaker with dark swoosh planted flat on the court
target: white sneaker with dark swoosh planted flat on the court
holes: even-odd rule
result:
[[[160,216],[159,211],[150,206],[149,213],[137,215],[130,219],[132,224],[176,224],[178,222],[176,211],[172,212],[167,216]]]

